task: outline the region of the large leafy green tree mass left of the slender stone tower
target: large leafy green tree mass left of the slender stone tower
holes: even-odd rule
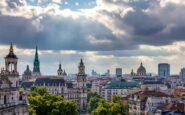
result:
[[[33,87],[28,96],[30,115],[77,115],[75,101],[64,101],[63,97],[47,92],[44,87]]]

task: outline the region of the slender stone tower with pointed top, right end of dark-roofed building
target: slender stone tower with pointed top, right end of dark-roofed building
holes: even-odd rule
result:
[[[83,60],[81,59],[80,64],[78,66],[78,74],[77,74],[77,87],[79,89],[80,95],[80,109],[86,110],[87,106],[87,93],[86,93],[86,77],[85,74],[85,65]]]

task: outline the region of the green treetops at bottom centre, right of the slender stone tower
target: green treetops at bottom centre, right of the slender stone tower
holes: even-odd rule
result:
[[[126,115],[128,107],[125,106],[120,96],[113,95],[112,102],[106,101],[97,93],[90,94],[88,112],[91,115]]]

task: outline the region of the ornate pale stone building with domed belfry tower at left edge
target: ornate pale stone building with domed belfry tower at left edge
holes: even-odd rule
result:
[[[11,44],[5,57],[5,69],[0,73],[0,115],[28,115],[28,105],[19,90],[18,58]]]

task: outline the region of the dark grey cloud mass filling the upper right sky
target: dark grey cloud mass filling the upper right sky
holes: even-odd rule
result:
[[[185,40],[185,16],[182,14],[184,5],[168,3],[161,8],[159,2],[151,4],[150,1],[145,1],[146,5],[143,7],[139,2],[143,3],[137,1],[133,6],[133,2],[130,2],[133,11],[128,12],[123,19],[119,18],[122,29],[126,30],[135,44],[162,46]],[[147,13],[144,11],[146,8],[151,12],[158,11],[158,14]],[[120,26],[120,22],[117,25]]]

